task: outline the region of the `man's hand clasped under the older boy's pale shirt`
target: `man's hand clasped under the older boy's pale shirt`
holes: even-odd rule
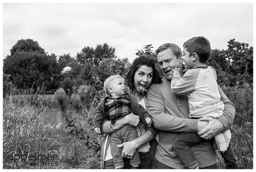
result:
[[[206,122],[208,121],[208,122]],[[222,132],[224,126],[217,119],[212,117],[203,117],[198,120],[198,135],[206,140]]]

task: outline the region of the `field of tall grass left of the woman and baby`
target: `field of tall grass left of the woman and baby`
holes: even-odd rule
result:
[[[70,127],[59,107],[48,108],[52,101],[57,103],[53,95],[47,96],[51,97],[49,104],[46,101],[37,104],[43,102],[44,95],[39,95],[38,99],[33,99],[32,95],[31,99],[28,95],[8,97],[3,105],[4,169],[99,168],[99,151],[92,148],[92,144],[98,148],[101,140],[101,136],[95,136],[92,131],[94,109],[76,113],[67,106],[65,117],[73,121]],[[83,130],[81,137],[74,135],[74,127]],[[58,159],[49,160],[49,165],[49,161],[38,160],[36,156],[28,158],[34,154],[57,155]]]

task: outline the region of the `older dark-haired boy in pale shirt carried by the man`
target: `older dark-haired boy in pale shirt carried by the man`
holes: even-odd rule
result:
[[[224,104],[220,100],[217,74],[214,68],[205,63],[211,55],[209,40],[204,37],[193,37],[183,44],[181,61],[185,63],[186,73],[181,77],[180,69],[174,68],[171,90],[175,94],[188,94],[189,118],[220,118]],[[226,168],[236,168],[236,158],[229,144],[230,130],[220,133],[215,143],[224,158]],[[207,138],[209,139],[209,138]],[[173,149],[181,159],[185,168],[198,169],[198,161],[190,147],[204,141],[197,133],[182,133],[173,142]],[[214,143],[214,145],[215,145]]]

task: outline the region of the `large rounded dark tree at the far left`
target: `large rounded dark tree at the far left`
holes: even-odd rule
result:
[[[36,89],[44,84],[46,89],[52,89],[53,76],[60,73],[56,55],[46,54],[32,39],[19,40],[11,52],[4,59],[3,71],[12,76],[17,88]]]

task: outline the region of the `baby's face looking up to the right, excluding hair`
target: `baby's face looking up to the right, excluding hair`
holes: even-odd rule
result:
[[[125,90],[124,90],[125,86],[126,84],[123,78],[113,79],[109,86],[109,88],[111,88],[110,89],[111,96],[113,97],[123,96],[125,94]]]

